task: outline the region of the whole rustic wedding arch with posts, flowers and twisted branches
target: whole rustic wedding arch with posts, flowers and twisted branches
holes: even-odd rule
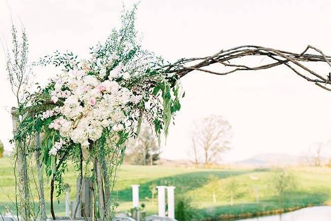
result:
[[[322,62],[331,67],[331,56],[313,46],[301,53],[292,53],[244,45],[171,63],[141,48],[136,40],[134,20],[135,9],[124,12],[122,27],[114,29],[104,43],[92,47],[88,59],[80,59],[71,52],[55,52],[35,63],[54,65],[62,71],[45,87],[25,93],[19,107],[12,109],[18,171],[17,215],[24,220],[35,216],[46,219],[44,174],[51,180],[51,214],[56,219],[54,192],[59,196],[65,188],[62,175],[68,161],[75,164],[80,180],[73,216],[81,209],[85,218],[91,211],[89,217],[111,220],[117,204],[116,174],[123,161],[126,141],[139,134],[142,120],[150,123],[159,138],[162,132],[167,136],[173,115],[180,110],[179,100],[183,96],[180,78],[192,71],[228,75],[282,65],[301,78],[331,90],[328,88],[330,73],[320,74],[307,66],[307,63]],[[17,51],[16,54],[20,55]],[[252,56],[268,58],[267,64],[250,67],[241,63],[241,58]],[[17,97],[20,85],[15,82],[24,80],[20,73],[26,62],[25,56],[19,58],[19,62],[17,56],[16,60],[8,59],[12,87],[18,87]],[[217,65],[228,70],[214,71],[219,70]],[[29,161],[37,165],[38,182],[34,184],[38,189],[38,214],[31,210]],[[86,208],[81,196],[86,178],[94,186],[90,208]]]

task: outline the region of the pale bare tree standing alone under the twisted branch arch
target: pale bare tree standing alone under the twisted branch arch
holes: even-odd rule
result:
[[[192,148],[195,162],[199,154],[203,155],[203,163],[211,164],[222,160],[222,153],[230,149],[232,127],[219,115],[211,115],[194,122],[192,132]]]

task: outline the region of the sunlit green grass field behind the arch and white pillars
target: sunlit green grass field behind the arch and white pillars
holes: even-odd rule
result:
[[[127,211],[131,203],[131,184],[140,184],[140,201],[146,205],[146,212],[157,213],[157,199],[151,201],[149,186],[158,185],[176,186],[176,197],[186,196],[192,199],[199,219],[217,217],[231,217],[239,215],[248,217],[268,212],[287,211],[295,208],[322,205],[331,203],[331,169],[329,168],[291,168],[295,174],[297,185],[284,195],[280,204],[275,195],[270,170],[244,169],[200,169],[183,167],[161,166],[132,166],[124,165],[119,172],[116,191],[118,194],[119,210]],[[210,182],[210,175],[216,181]],[[258,180],[251,179],[258,177]],[[75,172],[69,171],[64,177],[71,186],[70,197],[75,199],[76,178]],[[238,185],[234,197],[234,205],[230,206],[230,197],[225,188],[230,180]],[[215,183],[216,182],[216,183]],[[13,168],[8,157],[0,159],[0,211],[5,207],[14,208],[14,176]],[[216,202],[213,202],[212,188],[216,186]],[[259,190],[259,203],[256,202],[256,188]],[[49,187],[45,186],[46,200],[49,199]],[[49,207],[49,202],[47,202]],[[64,197],[59,198],[56,204],[57,215],[64,214]]]

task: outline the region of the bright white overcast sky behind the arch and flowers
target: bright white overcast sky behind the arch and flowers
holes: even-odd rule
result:
[[[124,1],[130,6],[133,1]],[[88,56],[89,46],[103,41],[119,25],[122,1],[0,0],[0,36],[10,43],[13,21],[24,23],[30,58],[56,49]],[[143,47],[175,60],[207,56],[220,49],[255,44],[301,52],[308,44],[331,54],[330,1],[153,1],[138,6],[137,29]],[[9,149],[15,104],[0,53],[0,139]],[[318,68],[321,74],[326,68]],[[53,70],[36,70],[43,83]],[[194,72],[182,78],[186,97],[170,129],[163,156],[186,159],[194,119],[220,114],[233,125],[233,149],[226,161],[258,153],[302,154],[314,142],[329,140],[331,93],[306,82],[286,67],[212,76]]]

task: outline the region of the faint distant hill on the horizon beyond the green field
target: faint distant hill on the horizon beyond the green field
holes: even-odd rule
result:
[[[266,153],[249,157],[246,160],[236,162],[235,165],[268,167],[268,166],[293,166],[305,163],[304,156],[293,156],[282,153]]]

